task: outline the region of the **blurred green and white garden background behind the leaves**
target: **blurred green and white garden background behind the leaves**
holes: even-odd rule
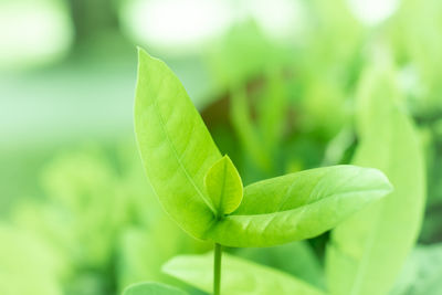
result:
[[[420,281],[393,292],[442,294],[441,36],[440,0],[1,0],[0,294],[179,284],[161,264],[210,249],[170,221],[144,175],[137,45],[176,72],[244,183],[347,164],[361,72],[391,65],[428,172],[410,262]],[[231,251],[323,286],[327,239]]]

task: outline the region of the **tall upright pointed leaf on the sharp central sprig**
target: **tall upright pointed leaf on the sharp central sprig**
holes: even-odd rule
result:
[[[148,179],[172,219],[202,238],[215,218],[203,179],[221,155],[177,76],[138,54],[135,131]]]

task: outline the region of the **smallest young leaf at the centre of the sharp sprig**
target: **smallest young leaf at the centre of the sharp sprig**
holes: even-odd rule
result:
[[[209,169],[204,185],[218,217],[230,214],[240,206],[242,181],[229,156],[222,157]]]

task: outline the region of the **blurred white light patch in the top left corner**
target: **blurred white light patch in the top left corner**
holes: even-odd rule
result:
[[[0,67],[49,62],[66,52],[72,40],[69,14],[54,1],[0,2]]]

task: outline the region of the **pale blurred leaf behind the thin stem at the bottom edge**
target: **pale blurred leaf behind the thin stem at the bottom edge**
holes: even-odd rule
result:
[[[208,293],[212,292],[212,268],[213,253],[177,256],[162,267],[167,274]],[[221,291],[230,295],[324,294],[288,274],[225,253],[222,255]]]

